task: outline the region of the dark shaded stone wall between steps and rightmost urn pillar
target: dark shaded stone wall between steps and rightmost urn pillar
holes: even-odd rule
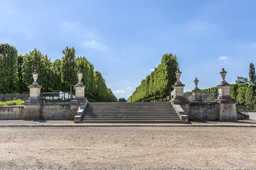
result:
[[[213,121],[220,119],[220,106],[216,102],[190,102],[188,120]]]

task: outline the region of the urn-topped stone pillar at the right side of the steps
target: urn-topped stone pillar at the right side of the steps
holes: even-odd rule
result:
[[[181,81],[179,81],[179,79],[181,78],[181,73],[182,72],[180,72],[179,69],[175,72],[177,81],[173,86],[174,98],[171,99],[171,101],[173,101],[174,103],[178,103],[178,104],[188,102],[188,100],[183,95],[183,93],[184,93],[183,88],[185,85],[182,84]]]

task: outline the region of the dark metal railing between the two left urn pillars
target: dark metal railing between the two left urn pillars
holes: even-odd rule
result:
[[[74,93],[70,92],[43,92],[41,100],[44,102],[70,102],[74,96]]]

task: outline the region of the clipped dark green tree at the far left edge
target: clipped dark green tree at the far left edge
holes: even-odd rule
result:
[[[18,51],[9,44],[0,44],[0,94],[14,94],[18,83]]]

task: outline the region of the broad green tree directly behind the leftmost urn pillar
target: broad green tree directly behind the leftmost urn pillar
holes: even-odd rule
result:
[[[48,59],[47,55],[43,55],[39,50],[36,50],[36,48],[23,56],[22,77],[26,86],[30,86],[33,83],[31,74],[35,69],[39,74],[37,82],[42,86],[42,91],[52,91],[50,59]]]

